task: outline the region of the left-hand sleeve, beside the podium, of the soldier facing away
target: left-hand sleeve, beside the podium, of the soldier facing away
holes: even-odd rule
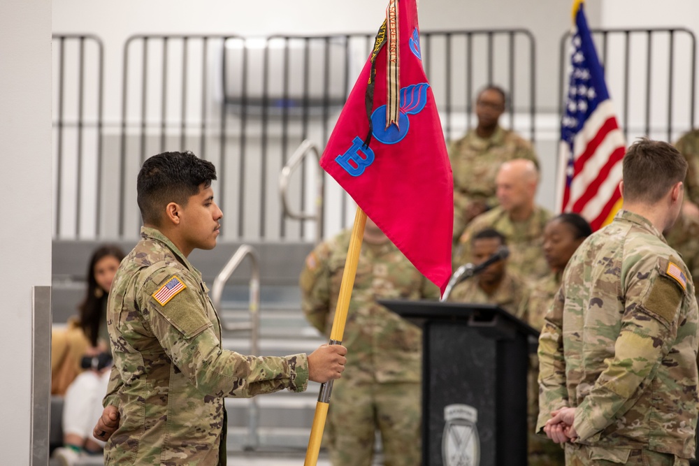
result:
[[[559,289],[551,310],[546,314],[544,328],[539,334],[539,417],[535,432],[540,433],[556,409],[568,407],[563,358],[563,304],[565,296]]]

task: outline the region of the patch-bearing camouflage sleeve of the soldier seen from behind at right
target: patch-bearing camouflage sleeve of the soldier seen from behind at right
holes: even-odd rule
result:
[[[649,265],[649,261],[654,263]],[[668,265],[667,259],[664,264]],[[663,259],[642,259],[626,277],[622,284],[626,302],[614,358],[605,360],[605,369],[575,411],[573,427],[581,440],[596,440],[614,418],[634,405],[677,336],[684,291],[665,272]]]

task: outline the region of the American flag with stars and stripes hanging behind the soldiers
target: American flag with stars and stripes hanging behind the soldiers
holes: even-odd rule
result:
[[[607,92],[583,3],[576,3],[556,192],[561,212],[578,212],[597,230],[611,221],[621,206],[618,186],[626,142]]]

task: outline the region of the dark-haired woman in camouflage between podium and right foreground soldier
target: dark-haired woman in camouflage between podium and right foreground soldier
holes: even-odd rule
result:
[[[592,228],[579,214],[560,214],[549,220],[544,229],[544,254],[551,268],[551,275],[540,279],[532,285],[526,303],[528,321],[536,330],[544,326],[544,318],[549,312],[554,296],[561,287],[561,275],[565,265],[575,250],[592,234]],[[534,428],[539,414],[539,363],[536,356],[531,356],[528,374],[528,450],[531,465],[561,465],[565,463],[565,455],[561,446],[550,439],[535,435]]]

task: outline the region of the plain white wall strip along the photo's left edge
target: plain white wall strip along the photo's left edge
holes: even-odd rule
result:
[[[29,465],[31,287],[51,284],[51,2],[0,10],[0,451],[3,465]]]

